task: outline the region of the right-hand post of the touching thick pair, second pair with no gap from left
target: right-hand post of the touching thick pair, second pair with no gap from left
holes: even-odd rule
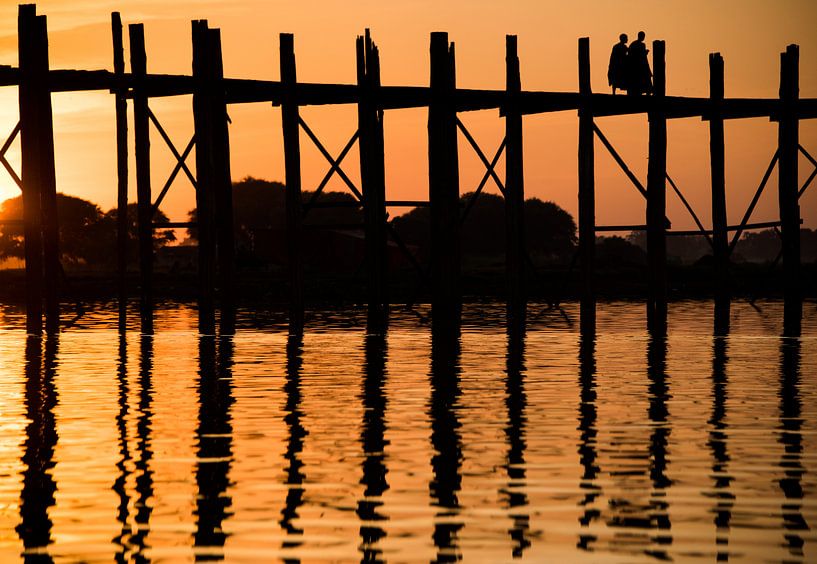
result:
[[[211,29],[208,35],[208,51],[213,73],[211,120],[213,129],[212,151],[214,166],[215,224],[218,248],[219,301],[221,304],[221,333],[235,331],[235,236],[233,231],[233,182],[230,174],[230,131],[224,88],[221,58],[221,32]]]

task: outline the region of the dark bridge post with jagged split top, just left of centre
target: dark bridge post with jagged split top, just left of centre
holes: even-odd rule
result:
[[[380,53],[369,30],[357,38],[358,131],[360,177],[366,233],[367,303],[369,327],[385,327],[388,298],[386,169],[383,146],[383,110],[378,108]]]

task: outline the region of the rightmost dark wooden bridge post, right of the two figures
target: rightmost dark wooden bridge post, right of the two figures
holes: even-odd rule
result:
[[[778,198],[780,231],[783,238],[784,315],[789,324],[800,324],[800,204],[798,202],[797,159],[799,158],[800,49],[789,45],[780,54],[780,113],[778,121]],[[784,323],[786,320],[784,320]]]

